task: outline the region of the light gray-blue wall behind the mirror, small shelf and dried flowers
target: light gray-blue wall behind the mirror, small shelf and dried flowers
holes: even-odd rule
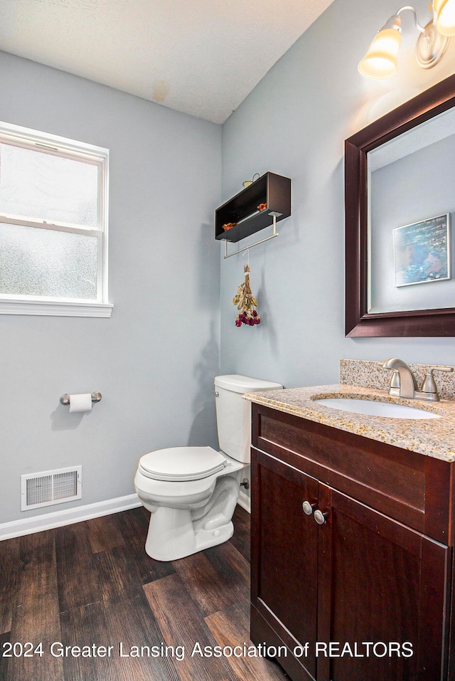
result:
[[[416,5],[427,23],[427,3]],[[234,325],[232,296],[247,256],[222,260],[223,372],[311,386],[338,381],[340,358],[455,363],[451,338],[344,337],[344,139],[454,70],[455,41],[439,65],[417,66],[407,11],[399,72],[363,78],[358,62],[395,11],[391,0],[335,0],[223,126],[223,199],[253,173],[273,171],[291,177],[293,211],[278,238],[250,251],[258,326]]]

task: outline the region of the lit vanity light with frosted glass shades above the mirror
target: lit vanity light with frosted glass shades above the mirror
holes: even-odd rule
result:
[[[360,61],[358,69],[368,78],[389,78],[396,73],[397,53],[401,43],[401,17],[405,9],[414,14],[414,23],[419,31],[416,45],[416,59],[422,68],[437,64],[444,55],[449,37],[455,35],[455,0],[434,0],[433,18],[427,26],[417,20],[417,11],[411,5],[401,7],[378,31],[370,49]]]

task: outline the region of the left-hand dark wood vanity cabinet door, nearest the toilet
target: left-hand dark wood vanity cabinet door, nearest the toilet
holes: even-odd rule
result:
[[[264,639],[259,619],[269,625],[289,648],[279,662],[293,678],[316,678],[314,645],[317,633],[318,526],[302,509],[317,503],[318,482],[313,477],[253,450],[252,453],[252,640]],[[288,664],[297,645],[308,642],[309,655],[296,670]],[[293,661],[291,661],[292,664]]]

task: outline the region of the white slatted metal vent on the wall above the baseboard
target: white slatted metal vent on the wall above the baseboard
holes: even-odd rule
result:
[[[21,511],[82,497],[82,466],[21,475]]]

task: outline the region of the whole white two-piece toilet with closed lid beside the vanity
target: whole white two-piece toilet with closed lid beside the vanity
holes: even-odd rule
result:
[[[134,477],[151,511],[146,553],[173,561],[226,542],[234,532],[242,470],[250,463],[251,403],[244,393],[283,386],[248,376],[215,377],[220,451],[171,447],[144,454]]]

